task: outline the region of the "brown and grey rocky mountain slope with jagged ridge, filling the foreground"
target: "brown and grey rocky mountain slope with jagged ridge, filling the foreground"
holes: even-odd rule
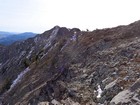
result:
[[[0,105],[140,105],[140,21],[0,45]]]

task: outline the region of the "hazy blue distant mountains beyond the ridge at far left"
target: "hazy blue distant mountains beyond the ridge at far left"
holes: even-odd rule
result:
[[[36,33],[32,32],[15,33],[15,32],[0,31],[0,44],[7,46],[16,41],[22,41],[34,37],[35,35]]]

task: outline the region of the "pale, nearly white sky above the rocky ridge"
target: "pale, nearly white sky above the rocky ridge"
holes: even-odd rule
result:
[[[140,0],[0,0],[0,30],[44,32],[55,25],[82,30],[140,20]]]

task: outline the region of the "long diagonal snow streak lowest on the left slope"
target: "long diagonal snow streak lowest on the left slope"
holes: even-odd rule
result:
[[[22,71],[18,77],[13,81],[13,84],[10,86],[10,89],[11,90],[17,83],[19,83],[21,81],[21,79],[24,77],[24,75],[29,71],[29,67],[26,68],[24,71]]]

